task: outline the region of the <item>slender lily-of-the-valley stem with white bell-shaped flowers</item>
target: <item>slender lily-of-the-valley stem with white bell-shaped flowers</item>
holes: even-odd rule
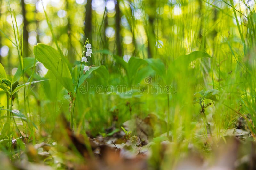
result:
[[[86,44],[87,43],[87,44]],[[87,48],[87,52],[85,53],[85,48]],[[79,70],[79,76],[78,76],[78,80],[77,80],[77,85],[76,85],[76,92],[75,92],[75,99],[74,99],[74,104],[73,104],[73,109],[72,109],[72,113],[70,114],[70,126],[71,126],[71,130],[73,129],[73,117],[74,117],[74,110],[75,110],[75,104],[76,104],[76,94],[77,94],[77,89],[78,89],[78,85],[79,85],[79,80],[80,80],[80,77],[81,77],[81,69],[82,69],[82,64],[83,62],[85,62],[85,66],[84,66],[84,69],[83,69],[83,72],[85,74],[85,72],[89,70],[89,67],[87,66],[86,62],[88,62],[87,57],[91,57],[91,54],[92,54],[92,45],[90,44],[88,38],[87,40],[85,41],[84,43],[84,48],[83,48],[83,52],[82,52],[82,59],[81,59],[81,63],[80,63],[80,70]],[[85,55],[84,55],[85,54]]]

